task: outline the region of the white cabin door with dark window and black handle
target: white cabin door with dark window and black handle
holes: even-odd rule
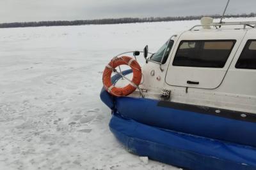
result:
[[[185,32],[175,46],[166,83],[216,89],[223,81],[244,33],[236,30]]]

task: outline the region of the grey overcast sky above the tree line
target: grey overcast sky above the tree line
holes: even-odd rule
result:
[[[226,0],[0,0],[0,22],[221,14]],[[227,13],[256,12],[256,0],[230,0]]]

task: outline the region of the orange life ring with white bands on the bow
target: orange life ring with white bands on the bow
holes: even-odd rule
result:
[[[132,68],[133,73],[131,83],[122,88],[115,87],[111,82],[111,74],[113,73],[115,68],[120,65],[130,66]],[[137,86],[140,85],[141,76],[142,73],[140,64],[138,64],[138,62],[135,59],[132,59],[131,57],[123,56],[112,59],[109,62],[109,64],[104,69],[102,81],[105,89],[113,96],[127,96],[134,92]]]

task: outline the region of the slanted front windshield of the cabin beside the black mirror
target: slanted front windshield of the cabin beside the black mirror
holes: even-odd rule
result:
[[[172,46],[173,46],[173,40],[168,40],[166,43],[164,43],[163,46],[161,46],[161,48],[152,55],[152,57],[150,57],[150,60],[153,60],[155,62],[161,62],[162,58],[163,58],[163,63],[164,64],[166,62],[166,60],[168,59],[168,56],[172,50]]]

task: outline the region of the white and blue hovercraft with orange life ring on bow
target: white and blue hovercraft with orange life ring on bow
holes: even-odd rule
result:
[[[111,109],[118,141],[129,152],[185,169],[256,169],[255,25],[195,25],[154,54],[146,46],[143,67],[140,52],[114,57],[100,98]],[[118,87],[123,80],[129,84]]]

